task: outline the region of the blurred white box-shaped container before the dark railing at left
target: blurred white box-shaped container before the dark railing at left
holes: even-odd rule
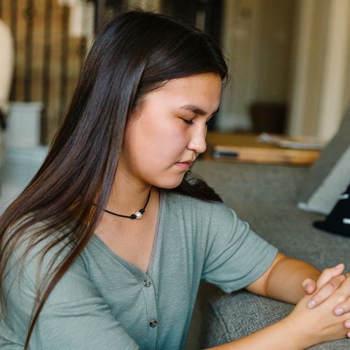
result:
[[[41,102],[11,102],[6,141],[8,147],[34,147],[40,144]]]

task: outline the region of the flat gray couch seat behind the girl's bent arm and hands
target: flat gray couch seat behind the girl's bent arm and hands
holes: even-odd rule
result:
[[[286,255],[318,269],[344,262],[350,272],[350,239],[313,228],[312,223],[321,216],[300,211],[293,203],[241,202],[233,208],[253,231]]]

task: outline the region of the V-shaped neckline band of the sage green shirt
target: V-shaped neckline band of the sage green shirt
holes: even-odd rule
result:
[[[120,264],[122,264],[126,269],[128,269],[130,272],[133,272],[136,275],[140,276],[150,276],[153,268],[154,268],[154,260],[155,260],[155,253],[158,251],[159,241],[162,235],[162,230],[160,229],[161,223],[162,223],[162,208],[164,207],[164,201],[165,201],[165,193],[162,191],[159,192],[159,207],[158,207],[158,217],[157,217],[157,225],[155,227],[155,237],[153,239],[153,246],[152,246],[152,252],[151,252],[151,258],[148,263],[148,268],[146,272],[142,271],[139,267],[132,264],[132,262],[129,262],[123,258],[120,257],[117,253],[115,253],[109,246],[107,246],[106,243],[98,236],[96,233],[92,236],[92,243],[97,244],[100,248],[102,248],[106,253],[109,253],[112,258],[115,260],[118,260]]]

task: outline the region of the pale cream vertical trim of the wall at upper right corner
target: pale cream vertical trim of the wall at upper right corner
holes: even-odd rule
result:
[[[329,140],[350,97],[350,1],[298,0],[289,133]]]

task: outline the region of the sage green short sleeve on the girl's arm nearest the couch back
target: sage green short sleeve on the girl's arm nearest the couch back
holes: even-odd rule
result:
[[[256,281],[278,252],[222,203],[211,206],[208,235],[202,279],[225,293]]]

